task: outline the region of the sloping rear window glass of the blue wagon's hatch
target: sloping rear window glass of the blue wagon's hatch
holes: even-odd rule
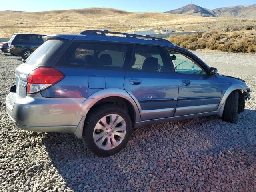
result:
[[[26,60],[30,66],[51,66],[56,54],[66,44],[67,40],[48,40],[37,48]]]

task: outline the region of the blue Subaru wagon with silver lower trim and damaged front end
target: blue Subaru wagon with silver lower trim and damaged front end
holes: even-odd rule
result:
[[[235,123],[250,99],[243,80],[168,40],[108,30],[45,40],[16,68],[7,112],[25,130],[73,133],[98,155],[119,152],[137,126],[210,115]]]

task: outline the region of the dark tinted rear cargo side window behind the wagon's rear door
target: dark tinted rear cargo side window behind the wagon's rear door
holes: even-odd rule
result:
[[[120,69],[128,62],[132,49],[124,44],[73,43],[63,54],[58,66]]]

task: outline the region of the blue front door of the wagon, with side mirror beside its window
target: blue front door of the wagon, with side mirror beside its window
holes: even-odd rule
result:
[[[178,78],[179,94],[174,116],[216,111],[220,103],[222,85],[209,76],[206,66],[192,54],[168,50]]]

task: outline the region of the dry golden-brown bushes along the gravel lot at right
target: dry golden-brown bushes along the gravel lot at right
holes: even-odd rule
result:
[[[186,49],[208,49],[256,53],[256,30],[220,32],[213,30],[189,36],[170,36],[170,41]]]

